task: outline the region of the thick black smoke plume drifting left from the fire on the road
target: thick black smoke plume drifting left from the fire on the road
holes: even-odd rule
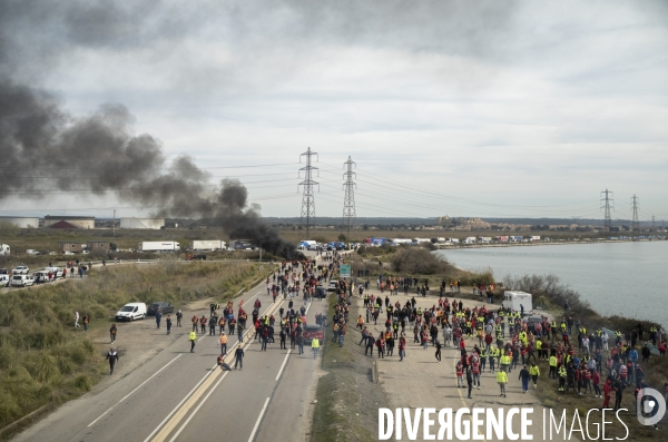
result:
[[[75,118],[56,98],[8,79],[0,80],[0,200],[12,195],[35,199],[50,190],[115,194],[157,216],[214,219],[232,238],[250,239],[287,258],[299,257],[248,205],[247,189],[209,174],[191,158],[168,163],[160,143],[131,135],[132,117],[120,105],[105,105]],[[11,166],[11,167],[8,167]]]

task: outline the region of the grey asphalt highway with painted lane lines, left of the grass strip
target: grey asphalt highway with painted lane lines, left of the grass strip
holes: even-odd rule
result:
[[[237,299],[253,305],[262,302],[261,313],[272,314],[287,301],[272,304],[264,282]],[[295,308],[303,305],[294,298]],[[307,305],[307,323],[325,313],[326,301]],[[235,313],[237,302],[235,301]],[[185,317],[187,322],[187,317]],[[250,327],[253,328],[253,327]],[[224,372],[216,366],[218,336],[200,335],[190,353],[188,332],[158,353],[148,363],[118,380],[98,394],[71,401],[13,438],[14,441],[96,441],[163,442],[212,440],[229,441],[304,440],[310,431],[310,392],[315,386],[316,369],[310,347],[279,350],[276,343],[261,352],[248,330],[243,346],[244,369]],[[276,327],[278,330],[278,327]],[[230,336],[228,355],[234,353],[236,336]],[[326,344],[328,345],[328,343]],[[232,348],[229,348],[232,346]],[[120,361],[119,363],[122,363]],[[232,366],[232,358],[228,362]],[[301,418],[302,416],[302,418]]]

